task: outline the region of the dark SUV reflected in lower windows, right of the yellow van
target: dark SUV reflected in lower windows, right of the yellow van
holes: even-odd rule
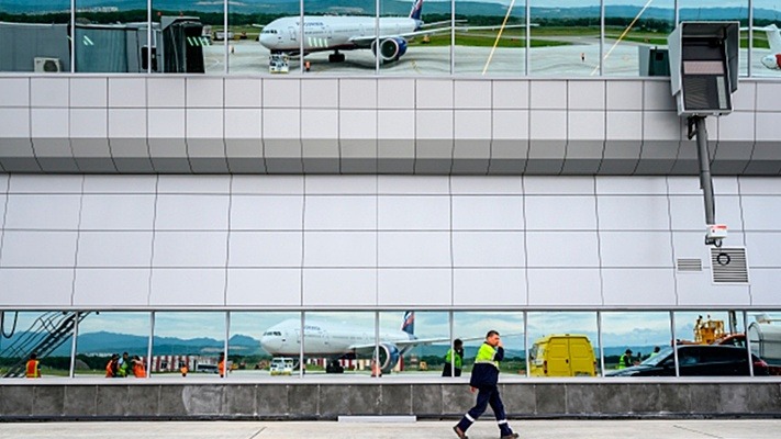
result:
[[[755,354],[751,360],[755,375],[768,374],[765,361]],[[748,352],[735,346],[679,346],[678,368],[681,376],[748,376]],[[609,371],[605,376],[676,376],[672,348],[662,349],[638,365]]]

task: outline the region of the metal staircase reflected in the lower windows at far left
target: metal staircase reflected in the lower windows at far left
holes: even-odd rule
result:
[[[80,323],[89,314],[90,312],[87,311],[51,311],[41,314],[26,331],[0,351],[2,358],[19,359],[2,376],[23,376],[27,358],[32,352],[37,353],[38,359],[52,353],[74,335],[76,322]]]

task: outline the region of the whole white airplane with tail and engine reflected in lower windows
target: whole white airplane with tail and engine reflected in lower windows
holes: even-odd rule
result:
[[[420,339],[415,337],[415,313],[408,311],[400,330],[380,333],[380,368],[389,372],[410,349],[417,345],[449,342],[449,338]],[[371,328],[336,325],[330,322],[304,320],[304,357],[330,358],[326,372],[341,372],[336,360],[343,357],[375,352],[375,331]],[[301,352],[301,320],[283,320],[264,331],[260,346],[274,357],[294,357]]]

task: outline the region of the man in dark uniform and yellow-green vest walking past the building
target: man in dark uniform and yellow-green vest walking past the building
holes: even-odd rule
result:
[[[497,416],[501,439],[517,438],[518,435],[513,432],[507,424],[507,417],[504,414],[504,404],[499,395],[499,362],[504,359],[504,348],[499,333],[489,330],[486,335],[486,341],[480,346],[477,357],[475,357],[475,367],[472,368],[472,376],[469,380],[471,391],[478,391],[477,404],[472,407],[461,420],[453,427],[456,435],[460,439],[467,439],[467,429],[486,412],[488,405],[491,405],[493,414]]]

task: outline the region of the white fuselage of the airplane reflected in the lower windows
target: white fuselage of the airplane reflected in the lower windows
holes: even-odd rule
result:
[[[304,357],[341,357],[353,351],[354,346],[375,342],[375,331],[360,327],[306,322]],[[402,330],[380,333],[380,342],[410,340]],[[288,319],[268,328],[260,338],[260,346],[275,357],[298,357],[301,352],[301,320]]]

